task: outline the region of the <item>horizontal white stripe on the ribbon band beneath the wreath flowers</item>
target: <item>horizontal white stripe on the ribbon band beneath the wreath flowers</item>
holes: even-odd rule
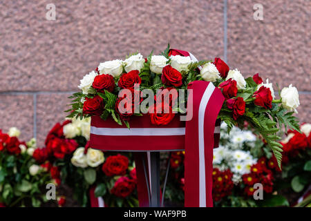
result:
[[[185,135],[185,127],[180,128],[98,128],[91,126],[91,134],[103,136],[173,136]]]

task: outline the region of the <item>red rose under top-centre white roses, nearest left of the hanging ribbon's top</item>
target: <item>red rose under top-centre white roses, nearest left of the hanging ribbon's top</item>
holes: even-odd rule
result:
[[[166,86],[182,86],[182,75],[178,70],[167,65],[162,70],[162,83]]]

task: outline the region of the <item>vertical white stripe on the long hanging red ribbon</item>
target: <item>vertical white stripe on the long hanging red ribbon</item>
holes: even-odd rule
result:
[[[209,82],[202,96],[198,111],[198,137],[199,137],[199,202],[200,207],[206,207],[206,184],[205,184],[205,150],[204,150],[204,117],[205,110],[215,86]]]

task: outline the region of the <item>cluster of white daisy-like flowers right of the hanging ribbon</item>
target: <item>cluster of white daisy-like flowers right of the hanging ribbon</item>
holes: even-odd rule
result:
[[[220,126],[220,142],[225,143],[225,146],[219,146],[214,149],[214,167],[225,170],[230,169],[234,173],[233,182],[238,184],[241,182],[241,177],[245,173],[249,173],[252,164],[255,164],[257,159],[244,151],[245,146],[252,147],[256,141],[256,136],[251,131],[241,131],[239,128],[232,128],[228,135],[226,132],[227,125],[225,123]]]

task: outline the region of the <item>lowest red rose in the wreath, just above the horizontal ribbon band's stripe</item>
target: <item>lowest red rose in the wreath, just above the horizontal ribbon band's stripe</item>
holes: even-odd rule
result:
[[[154,108],[153,113],[151,113],[152,108]],[[157,110],[161,110],[161,113],[156,113]],[[156,104],[156,106],[151,106],[149,108],[149,115],[151,124],[155,125],[167,125],[175,117],[175,113],[173,113],[171,106],[164,104],[164,102]]]

